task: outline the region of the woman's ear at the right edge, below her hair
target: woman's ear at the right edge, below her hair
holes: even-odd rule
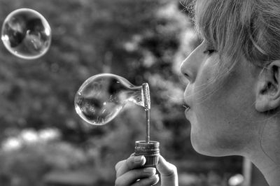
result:
[[[255,109],[259,112],[280,106],[280,60],[273,61],[260,73],[257,82]]]

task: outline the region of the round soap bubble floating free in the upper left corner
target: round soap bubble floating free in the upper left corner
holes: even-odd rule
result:
[[[13,55],[36,59],[50,48],[51,29],[43,15],[29,8],[20,8],[4,20],[1,39]]]

